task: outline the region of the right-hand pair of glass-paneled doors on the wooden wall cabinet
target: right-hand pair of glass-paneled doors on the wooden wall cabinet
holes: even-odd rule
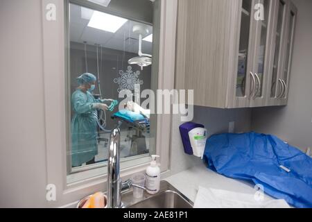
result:
[[[297,9],[291,1],[276,2],[267,105],[287,104],[296,17]]]

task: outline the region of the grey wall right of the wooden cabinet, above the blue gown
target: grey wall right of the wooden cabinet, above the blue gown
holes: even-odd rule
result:
[[[297,24],[288,105],[252,111],[252,130],[312,148],[312,1],[295,0]]]

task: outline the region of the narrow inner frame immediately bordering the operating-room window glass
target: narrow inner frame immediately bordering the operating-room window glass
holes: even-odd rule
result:
[[[98,163],[98,164],[90,164],[87,166],[83,166],[83,167],[76,167],[76,168],[72,168],[71,166],[71,132],[70,132],[70,115],[71,115],[71,101],[70,101],[70,87],[71,87],[71,83],[70,83],[70,78],[69,78],[69,74],[71,73],[70,70],[70,65],[69,65],[69,61],[70,61],[70,36],[69,36],[69,14],[70,14],[70,8],[69,5],[70,4],[75,4],[76,6],[80,6],[80,7],[85,7],[85,8],[90,8],[91,10],[100,10],[106,13],[109,13],[111,15],[116,15],[119,17],[122,17],[123,15],[121,15],[119,12],[115,12],[112,10],[107,9],[107,7],[98,5],[96,3],[92,3],[89,1],[85,1],[85,0],[65,0],[64,1],[64,27],[65,27],[65,47],[67,47],[67,55],[65,56],[65,58],[67,58],[67,153],[69,155],[67,155],[67,183],[70,184],[70,186],[73,185],[77,185],[80,184],[81,181],[87,179],[87,178],[94,178],[96,176],[99,176],[101,174],[103,174],[103,171],[106,172],[107,171],[107,162],[102,162],[102,163]],[[159,13],[159,15],[157,15],[157,17],[160,17],[160,11],[157,12],[157,14]],[[128,15],[129,16],[129,15]],[[132,21],[136,21],[136,22],[140,22],[140,23],[144,23],[147,24],[148,26],[153,26],[153,24],[149,23],[149,22],[145,22],[145,21],[140,21],[138,18],[133,18],[133,17],[125,17],[126,19],[130,19]],[[157,25],[159,25],[157,22]],[[157,27],[155,27],[155,29],[157,29]],[[155,44],[154,41],[153,44]],[[153,56],[158,54],[158,51],[153,53]],[[158,56],[155,56],[155,58],[157,58]],[[156,64],[156,62],[155,62]],[[153,66],[152,67],[152,77],[153,76],[157,76],[157,75],[153,75],[154,73],[158,73],[158,66]],[[158,76],[157,76],[158,77]],[[157,89],[157,78],[152,78],[152,86],[151,89]],[[153,123],[153,126],[157,126],[157,122],[155,121],[157,120],[157,118],[155,117],[155,115],[151,115],[151,123]],[[150,135],[152,137],[156,138],[156,127],[153,127],[150,129]],[[150,143],[152,144],[156,144],[155,139],[152,139],[150,141]],[[150,151],[152,151],[153,153],[151,154],[155,154],[156,152],[156,147],[155,145],[152,146],[153,149],[150,149]],[[136,155],[134,157],[126,157],[126,158],[122,158],[121,159],[121,169],[126,169],[129,167],[133,167],[133,166],[137,166],[137,165],[141,165],[141,164],[146,164],[147,162],[150,162],[150,154],[146,153],[144,155]]]

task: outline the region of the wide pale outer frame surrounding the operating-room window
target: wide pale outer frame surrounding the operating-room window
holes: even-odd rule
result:
[[[177,0],[161,0],[159,35],[158,89],[173,89],[175,73],[175,31]],[[46,6],[56,6],[56,20],[46,19]],[[76,203],[96,191],[105,191],[106,175],[96,176],[67,184],[67,117],[65,77],[67,73],[64,0],[42,0],[42,44],[44,75],[44,108],[46,136],[46,181],[56,187],[56,200],[50,207]],[[161,156],[163,175],[169,171],[171,114],[157,115],[156,153]],[[148,163],[121,170],[121,178],[130,178],[133,173],[145,171]]]

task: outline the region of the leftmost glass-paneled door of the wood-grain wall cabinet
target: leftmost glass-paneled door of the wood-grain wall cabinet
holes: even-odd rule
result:
[[[234,88],[231,90],[232,100],[229,100],[228,108],[249,107],[251,93],[254,92],[254,76],[252,74],[252,59],[254,55],[254,37],[256,31],[256,22],[254,22],[254,4],[258,0],[242,0],[239,10],[239,40],[237,48],[237,57],[234,59],[233,78]]]

